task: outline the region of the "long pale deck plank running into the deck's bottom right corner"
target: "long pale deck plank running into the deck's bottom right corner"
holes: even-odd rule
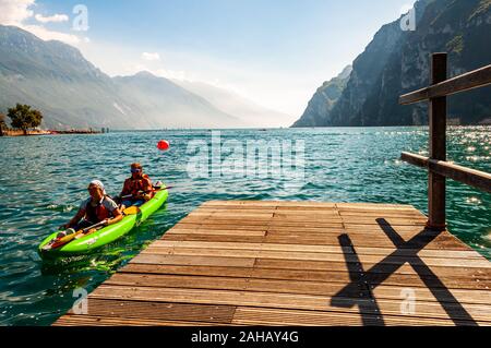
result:
[[[356,303],[367,302],[359,298],[338,298],[328,296],[313,295],[290,295],[272,292],[251,292],[251,291],[229,291],[229,290],[196,290],[196,289],[168,289],[168,288],[146,288],[146,287],[120,287],[103,285],[97,288],[89,299],[113,299],[113,300],[139,300],[157,301],[173,303],[195,303],[195,304],[215,304],[215,305],[237,305],[237,307],[259,307],[259,308],[278,308],[278,309],[298,309],[298,310],[318,310],[318,311],[337,311],[359,313],[360,309]],[[393,299],[380,299],[378,304],[383,315],[405,315],[402,313],[402,301]],[[354,303],[349,307],[349,303]],[[448,308],[455,308],[454,317],[466,319],[467,315],[459,313],[464,308],[475,320],[490,321],[491,305],[448,303]],[[435,301],[426,302],[416,299],[416,311],[418,316],[432,316],[448,319],[448,314],[442,308],[442,304]],[[374,308],[367,305],[362,308],[363,313],[376,314]],[[414,314],[406,314],[415,316]]]

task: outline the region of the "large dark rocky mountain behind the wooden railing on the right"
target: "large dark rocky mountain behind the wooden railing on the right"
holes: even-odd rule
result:
[[[428,86],[432,52],[448,52],[450,76],[491,62],[491,0],[420,0],[415,11],[415,32],[403,32],[399,19],[375,34],[331,111],[312,116],[314,125],[428,124],[427,104],[400,106],[398,97]],[[450,97],[448,115],[462,124],[486,122],[490,87]]]

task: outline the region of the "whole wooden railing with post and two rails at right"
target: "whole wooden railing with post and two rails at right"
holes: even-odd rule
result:
[[[447,55],[433,53],[430,86],[400,96],[402,105],[429,100],[430,157],[403,153],[402,159],[418,167],[428,168],[427,227],[435,230],[446,228],[445,199],[446,178],[491,192],[491,175],[446,161],[446,97],[491,84],[491,64],[447,80]]]

